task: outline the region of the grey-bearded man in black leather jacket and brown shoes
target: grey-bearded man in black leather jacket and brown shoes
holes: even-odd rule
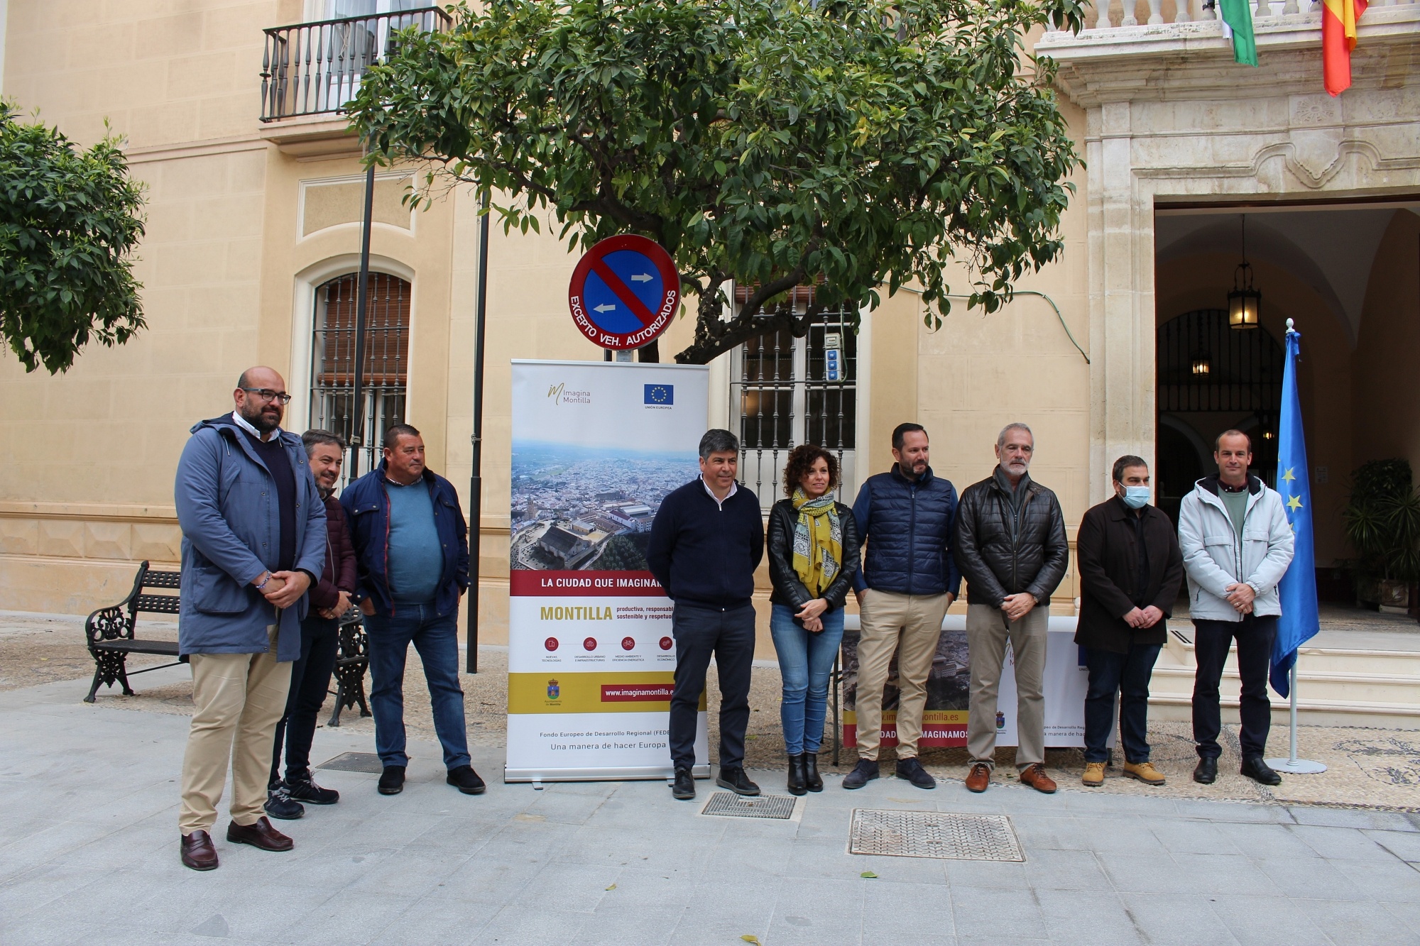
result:
[[[961,494],[957,510],[957,567],[967,580],[967,648],[971,709],[967,788],[985,791],[995,768],[995,697],[1010,641],[1015,663],[1015,767],[1021,783],[1047,794],[1045,639],[1051,592],[1065,577],[1069,544],[1055,493],[1031,480],[1035,436],[1010,423],[995,439],[995,472]]]

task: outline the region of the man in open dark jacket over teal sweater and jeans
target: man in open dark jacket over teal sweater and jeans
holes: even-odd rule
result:
[[[419,651],[447,783],[477,795],[459,685],[459,597],[469,588],[469,527],[453,484],[425,466],[425,440],[408,423],[385,432],[383,460],[345,487],[341,506],[359,562],[359,609],[369,632],[369,703],[376,790],[405,790],[405,658]]]

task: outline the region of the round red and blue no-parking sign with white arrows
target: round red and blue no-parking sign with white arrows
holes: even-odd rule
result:
[[[640,348],[666,331],[680,274],[655,240],[606,237],[582,256],[567,291],[577,330],[602,348]]]

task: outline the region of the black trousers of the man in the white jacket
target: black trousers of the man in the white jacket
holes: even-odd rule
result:
[[[1242,734],[1238,743],[1242,759],[1261,756],[1267,750],[1267,733],[1272,727],[1267,673],[1272,665],[1277,618],[1250,614],[1241,621],[1194,619],[1193,626],[1193,649],[1198,659],[1198,672],[1193,678],[1193,741],[1198,746],[1198,756],[1217,759],[1223,754],[1223,747],[1218,746],[1218,733],[1223,730],[1218,682],[1223,679],[1223,663],[1228,659],[1228,646],[1234,641],[1238,645],[1238,675],[1242,678],[1238,703]]]

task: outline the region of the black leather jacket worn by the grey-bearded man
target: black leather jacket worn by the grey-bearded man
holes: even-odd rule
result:
[[[961,493],[951,548],[971,604],[1000,608],[1007,595],[1021,591],[1049,604],[1065,577],[1069,544],[1059,500],[1030,477],[1021,487],[1020,517],[994,473]]]

